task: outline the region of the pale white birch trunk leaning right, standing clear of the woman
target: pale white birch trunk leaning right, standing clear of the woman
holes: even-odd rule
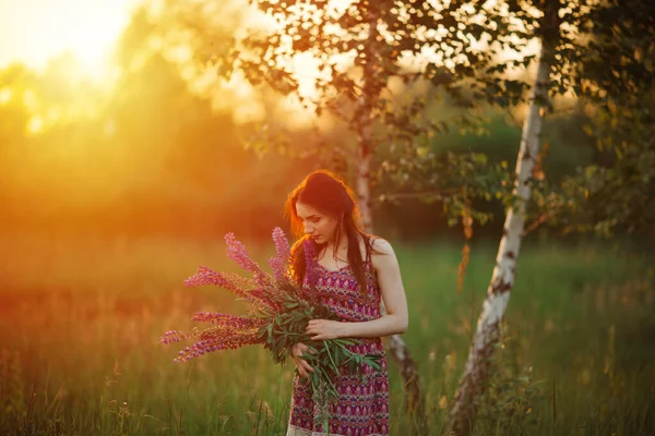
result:
[[[548,100],[552,56],[552,45],[543,37],[529,112],[523,125],[516,159],[516,182],[513,194],[519,199],[514,207],[507,213],[503,235],[496,257],[496,267],[487,289],[487,299],[478,318],[464,374],[449,413],[445,426],[445,433],[449,435],[464,436],[471,433],[477,411],[477,398],[484,392],[489,376],[489,360],[499,339],[499,323],[502,320],[510,301],[516,259],[525,228],[525,204],[531,197],[531,179],[540,148],[541,121],[545,110],[543,107]]]

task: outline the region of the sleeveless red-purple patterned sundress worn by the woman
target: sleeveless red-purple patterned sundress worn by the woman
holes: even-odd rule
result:
[[[357,279],[350,267],[330,270],[315,263],[317,292],[323,304],[336,313],[343,322],[366,322],[380,317],[380,287],[370,261],[365,264],[367,292],[365,299],[358,289]],[[358,338],[357,346],[348,346],[350,351],[360,354],[381,355],[382,371],[377,372],[362,364],[367,377],[360,380],[348,376],[345,371],[336,385],[338,399],[330,407],[331,436],[386,436],[389,435],[389,374],[386,356],[381,338]],[[296,375],[289,424],[286,436],[327,435],[322,423],[314,422],[314,402],[309,382]]]

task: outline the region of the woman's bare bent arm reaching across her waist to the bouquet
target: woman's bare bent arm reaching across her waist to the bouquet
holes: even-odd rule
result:
[[[386,315],[361,323],[340,323],[329,319],[312,319],[306,332],[312,340],[335,338],[377,338],[407,331],[407,299],[401,278],[398,261],[391,244],[383,239],[376,240],[376,251],[371,261],[378,274],[378,283]]]

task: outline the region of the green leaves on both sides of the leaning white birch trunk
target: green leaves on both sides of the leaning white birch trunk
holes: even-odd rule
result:
[[[565,143],[575,142],[571,133],[559,138],[561,133],[557,126],[561,122],[545,124],[540,141],[550,146],[544,147],[545,153],[539,156],[529,180],[533,192],[527,205],[527,231],[544,223],[564,232],[592,230],[605,235],[612,231],[647,230],[647,223],[653,220],[650,201],[653,197],[650,141],[653,133],[650,129],[653,38],[647,37],[653,33],[652,9],[642,0],[602,4],[583,1],[565,8],[558,1],[510,1],[508,5],[512,19],[521,21],[526,29],[521,37],[538,38],[555,51],[549,94],[560,96],[573,92],[582,98],[581,106],[594,105],[585,109],[592,117],[577,113],[571,122],[579,124],[574,132],[577,142],[588,144],[588,140],[581,138],[580,124],[591,120],[595,128],[587,128],[587,131],[599,144],[595,159],[590,156],[590,147],[585,150],[575,145],[565,150]],[[535,14],[535,9],[541,14]],[[523,61],[525,66],[531,59]],[[508,60],[499,64],[498,72],[504,72],[514,62]],[[510,89],[515,90],[513,96],[526,97],[525,90],[533,86],[532,78],[524,77],[500,83],[493,75],[478,78],[485,83],[490,96],[505,95],[501,106],[507,107],[523,101],[508,97]],[[547,104],[545,109],[551,112],[556,109],[550,102],[537,104]],[[472,114],[468,116],[473,119]],[[471,123],[468,130],[479,131],[480,126],[480,123]],[[438,135],[432,141],[448,142],[448,134]],[[462,135],[460,141],[467,140],[469,137]],[[500,137],[497,140],[500,141]],[[382,162],[382,171],[388,172],[384,174],[386,182],[382,185],[391,192],[389,197],[394,195],[394,189],[400,187],[398,198],[439,201],[451,226],[467,217],[484,223],[516,202],[510,193],[512,168],[507,164],[502,167],[495,165],[499,156],[505,156],[505,161],[513,162],[515,158],[511,150],[516,149],[520,136],[516,135],[513,142],[511,147],[503,144],[498,146],[499,150],[492,152],[468,147],[469,154],[463,153],[457,159],[443,150],[443,144],[439,144],[440,152],[421,145],[407,145],[397,161]],[[573,150],[577,156],[573,155]],[[480,155],[476,156],[476,152]],[[609,162],[607,159],[602,162],[603,154],[608,153],[612,155]],[[442,159],[449,164],[437,165],[430,159]],[[501,204],[502,209],[490,211],[485,204],[489,198]]]

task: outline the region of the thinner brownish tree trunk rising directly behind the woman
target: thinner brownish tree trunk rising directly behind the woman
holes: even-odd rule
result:
[[[377,16],[369,15],[369,35],[367,46],[367,62],[364,68],[364,96],[358,117],[358,142],[357,142],[357,160],[356,160],[356,194],[359,210],[361,213],[361,221],[364,230],[367,233],[373,232],[373,219],[371,215],[371,161],[372,161],[372,136],[371,136],[371,98],[377,95],[373,84],[373,63],[377,58],[374,50],[378,44],[378,26]],[[381,315],[386,315],[384,302],[380,303]],[[412,359],[412,354],[400,335],[390,336],[386,339],[389,352],[393,361],[398,366],[401,376],[405,385],[405,401],[407,409],[414,415],[413,422],[416,425],[415,434],[425,434],[425,405],[421,397],[420,380],[416,362]]]

